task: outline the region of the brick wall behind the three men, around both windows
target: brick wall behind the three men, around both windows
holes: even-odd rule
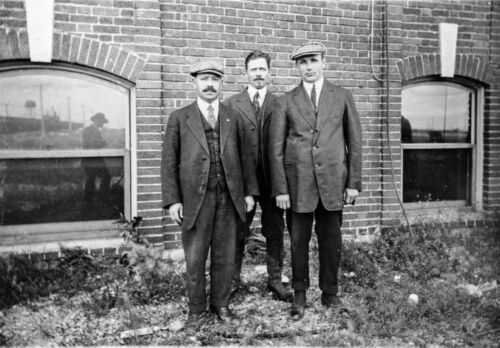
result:
[[[193,62],[204,57],[224,61],[227,98],[245,85],[248,51],[262,49],[273,59],[270,89],[283,93],[299,82],[289,60],[293,47],[308,40],[323,42],[328,49],[326,77],[353,93],[361,117],[363,193],[356,206],[346,207],[344,228],[347,234],[365,234],[401,219],[391,170],[392,163],[399,189],[400,81],[407,77],[401,75],[398,64],[404,67],[408,57],[415,57],[407,60],[414,63],[408,63],[410,68],[418,66],[419,59],[424,64],[422,57],[434,57],[429,59],[436,62],[439,22],[458,23],[457,53],[477,57],[491,69],[486,87],[484,203],[486,208],[499,208],[500,165],[495,161],[500,155],[499,7],[495,1],[481,0],[388,1],[388,120],[386,86],[379,81],[386,72],[382,1],[373,3],[372,13],[372,2],[335,0],[56,0],[55,30],[80,40],[80,49],[108,47],[113,51],[106,56],[112,60],[111,72],[127,62],[127,52],[144,62],[140,74],[137,70],[132,104],[137,130],[137,213],[144,217],[142,230],[158,242],[164,238],[170,248],[179,246],[180,239],[178,227],[162,217],[161,135],[168,115],[195,97],[187,73]],[[0,46],[26,41],[25,26],[24,2],[0,0]],[[12,29],[18,29],[18,36],[8,34]],[[0,59],[8,59],[1,50]]]

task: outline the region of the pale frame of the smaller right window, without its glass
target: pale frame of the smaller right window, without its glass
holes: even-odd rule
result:
[[[439,85],[449,84],[451,86],[469,89],[474,93],[474,115],[471,119],[471,140],[470,143],[403,143],[401,142],[401,186],[400,195],[403,197],[403,160],[404,150],[422,150],[422,149],[471,149],[471,182],[470,182],[470,204],[465,200],[446,200],[435,202],[406,202],[404,207],[409,210],[417,209],[471,209],[473,211],[482,211],[483,209],[483,133],[484,133],[484,85],[463,77],[442,78],[439,76],[426,76],[410,80],[404,83],[401,91],[405,88],[415,86],[421,83],[435,83]],[[401,93],[402,94],[402,93]],[[401,104],[403,97],[401,95]],[[474,117],[475,116],[475,117]]]

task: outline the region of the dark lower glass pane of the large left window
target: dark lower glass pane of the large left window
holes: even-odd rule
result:
[[[0,225],[108,220],[123,212],[123,158],[0,161]]]

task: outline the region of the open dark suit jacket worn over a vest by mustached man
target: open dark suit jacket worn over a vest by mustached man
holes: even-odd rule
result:
[[[163,140],[161,180],[163,207],[182,203],[183,229],[190,229],[205,197],[210,153],[196,102],[174,111]],[[220,151],[227,187],[239,216],[245,220],[245,196],[258,195],[255,170],[244,128],[236,112],[219,106]]]

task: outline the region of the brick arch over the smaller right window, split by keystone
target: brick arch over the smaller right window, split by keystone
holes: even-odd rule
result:
[[[441,57],[439,54],[422,54],[406,57],[397,62],[401,82],[429,75],[441,74]],[[483,57],[472,54],[457,54],[455,75],[491,84],[493,68]]]

